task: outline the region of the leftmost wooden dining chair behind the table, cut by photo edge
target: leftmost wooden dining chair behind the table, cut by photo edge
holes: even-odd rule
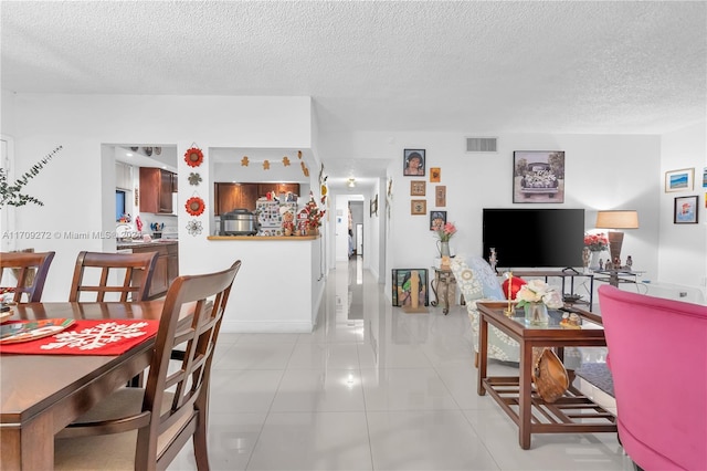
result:
[[[7,270],[17,280],[14,286],[7,286],[14,290],[13,302],[39,303],[42,301],[44,282],[52,260],[54,260],[54,252],[0,253],[0,279],[6,278]]]

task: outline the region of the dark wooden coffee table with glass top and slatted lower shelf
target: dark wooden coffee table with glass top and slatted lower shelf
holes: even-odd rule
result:
[[[488,393],[516,422],[520,448],[530,448],[532,433],[616,432],[615,417],[572,386],[572,370],[568,370],[569,389],[552,404],[546,402],[532,385],[532,347],[553,347],[562,358],[564,347],[605,346],[600,316],[568,306],[580,315],[580,328],[560,327],[561,311],[550,311],[547,326],[530,326],[526,325],[523,310],[514,310],[510,317],[505,315],[507,302],[479,302],[476,305],[479,314],[478,395]],[[489,324],[520,345],[520,376],[487,376]]]

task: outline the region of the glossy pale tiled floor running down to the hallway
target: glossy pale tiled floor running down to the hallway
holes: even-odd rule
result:
[[[318,320],[312,334],[221,335],[213,470],[633,469],[614,433],[539,435],[521,450],[476,394],[463,306],[405,314],[352,259],[329,273]],[[191,444],[169,469],[196,469]]]

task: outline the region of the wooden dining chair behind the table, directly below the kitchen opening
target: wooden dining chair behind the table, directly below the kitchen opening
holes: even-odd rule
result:
[[[82,299],[83,293],[95,293],[95,299],[91,301],[97,302],[147,301],[156,263],[157,252],[106,253],[83,251],[76,258],[68,301],[85,301],[86,296]],[[112,275],[116,278],[116,281],[112,280]],[[122,284],[119,283],[120,280]],[[107,293],[120,294],[119,300],[106,300]],[[128,295],[130,295],[130,299],[128,299]]]

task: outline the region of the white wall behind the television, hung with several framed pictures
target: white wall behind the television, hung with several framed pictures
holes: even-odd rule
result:
[[[677,240],[665,240],[662,233],[666,226],[673,229],[672,209],[669,214],[659,218],[657,214],[666,211],[663,208],[664,170],[697,167],[700,164],[694,159],[704,159],[704,124],[690,128],[688,134],[689,139],[679,132],[675,137],[664,137],[667,143],[682,143],[693,159],[684,164],[674,155],[678,154],[677,149],[672,150],[675,145],[668,148],[668,144],[662,145],[661,136],[650,135],[498,135],[497,153],[467,154],[464,151],[464,139],[474,133],[360,133],[354,136],[327,136],[320,143],[320,148],[324,155],[327,149],[337,149],[341,158],[390,161],[388,174],[393,180],[393,196],[390,231],[386,241],[386,273],[381,274],[387,285],[390,283],[388,273],[391,269],[430,266],[436,254],[435,239],[429,231],[429,217],[410,214],[410,180],[416,177],[402,176],[405,148],[426,150],[428,171],[424,179],[428,184],[424,199],[428,201],[428,211],[435,209],[434,186],[446,186],[447,203],[439,209],[446,210],[447,220],[458,228],[451,243],[453,253],[481,254],[483,208],[584,208],[587,230],[594,227],[598,210],[636,209],[641,228],[625,232],[622,254],[632,255],[634,270],[645,271],[645,280],[674,279],[677,282],[675,273],[682,271],[679,279],[686,283],[705,275],[704,266],[697,272],[685,270],[686,265],[705,263],[705,227],[700,224],[694,228],[695,237],[699,240],[684,251],[679,249],[682,244]],[[514,205],[513,151],[555,149],[566,151],[564,202]],[[430,167],[441,167],[440,184],[429,182]],[[696,180],[697,175],[701,178],[700,171],[697,171]],[[704,221],[701,216],[700,221]],[[658,273],[658,251],[655,250],[658,242],[667,244],[665,251],[671,253],[669,258],[662,258],[659,263],[664,275]],[[390,292],[389,287],[386,292]]]

